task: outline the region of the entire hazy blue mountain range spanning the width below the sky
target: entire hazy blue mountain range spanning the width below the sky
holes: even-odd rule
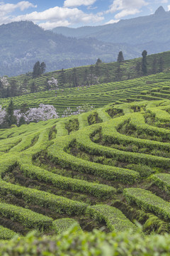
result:
[[[141,57],[144,49],[148,54],[168,51],[169,21],[170,12],[160,7],[150,16],[96,27],[45,31],[31,21],[1,25],[0,76],[31,72],[38,60],[46,63],[47,71],[54,71],[91,65],[97,58],[110,63],[120,50],[125,60]],[[80,38],[73,37],[75,33]]]

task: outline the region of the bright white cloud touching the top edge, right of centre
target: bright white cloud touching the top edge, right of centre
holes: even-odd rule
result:
[[[142,6],[147,6],[145,0],[114,0],[106,13],[114,13],[120,11],[115,15],[116,19],[123,18],[128,15],[137,14],[140,12]]]

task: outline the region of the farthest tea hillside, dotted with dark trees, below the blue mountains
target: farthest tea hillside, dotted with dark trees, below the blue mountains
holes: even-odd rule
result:
[[[55,84],[47,85],[47,81],[52,80],[52,78],[57,79],[58,86],[62,89],[139,78],[143,75],[141,62],[142,58],[136,58],[125,60],[123,63],[98,63],[97,65],[57,70],[45,73],[38,78],[32,78],[30,73],[7,79],[10,85],[15,87],[15,95],[25,95],[30,92],[56,90]],[[147,55],[147,75],[160,73],[169,68],[170,51]],[[11,95],[7,97],[13,97],[12,87]]]

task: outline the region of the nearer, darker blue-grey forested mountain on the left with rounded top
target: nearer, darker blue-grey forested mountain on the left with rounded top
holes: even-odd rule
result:
[[[116,60],[123,50],[125,58],[140,53],[128,44],[103,43],[96,38],[70,38],[45,31],[31,21],[0,26],[0,76],[19,75],[33,70],[36,61],[44,61],[47,71],[73,68]]]

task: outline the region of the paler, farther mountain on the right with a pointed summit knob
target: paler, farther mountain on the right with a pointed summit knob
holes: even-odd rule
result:
[[[130,46],[135,46],[141,50],[145,44],[153,43],[152,51],[149,53],[158,53],[169,50],[166,44],[170,41],[170,11],[165,11],[162,6],[149,16],[138,18],[130,18],[121,20],[118,23],[108,24],[104,26],[81,27],[81,28],[54,28],[55,33],[62,35],[75,36],[77,38],[92,37],[99,41],[107,43],[128,43]],[[162,48],[157,47],[162,44]]]

